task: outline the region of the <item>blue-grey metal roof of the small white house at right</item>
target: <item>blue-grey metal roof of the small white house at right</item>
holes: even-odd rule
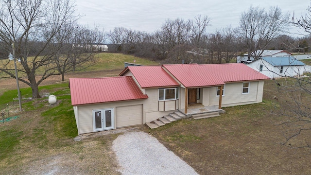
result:
[[[304,66],[305,63],[296,60],[293,56],[289,57],[262,57],[263,60],[272,66]]]

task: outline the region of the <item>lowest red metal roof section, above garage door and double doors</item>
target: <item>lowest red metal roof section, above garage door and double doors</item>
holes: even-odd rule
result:
[[[131,76],[70,78],[69,86],[72,105],[148,98]]]

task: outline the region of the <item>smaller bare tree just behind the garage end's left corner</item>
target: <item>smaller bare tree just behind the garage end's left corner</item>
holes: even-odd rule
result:
[[[94,65],[97,61],[95,55],[102,51],[101,46],[105,39],[104,31],[100,31],[96,25],[94,29],[77,24],[66,26],[55,36],[60,40],[53,47],[62,46],[54,55],[54,63],[62,75],[62,81],[65,81],[66,72],[85,70]]]

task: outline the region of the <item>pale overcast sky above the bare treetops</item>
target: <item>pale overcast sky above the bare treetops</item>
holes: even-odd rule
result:
[[[99,24],[106,32],[114,27],[146,31],[160,29],[170,18],[194,19],[197,14],[211,18],[208,33],[227,25],[237,27],[243,11],[250,5],[269,10],[278,6],[282,12],[305,14],[310,0],[76,0],[77,13],[83,15],[79,23]]]

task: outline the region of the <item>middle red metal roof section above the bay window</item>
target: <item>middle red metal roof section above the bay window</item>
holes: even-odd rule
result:
[[[141,88],[180,86],[161,66],[129,66],[119,76],[131,71]]]

